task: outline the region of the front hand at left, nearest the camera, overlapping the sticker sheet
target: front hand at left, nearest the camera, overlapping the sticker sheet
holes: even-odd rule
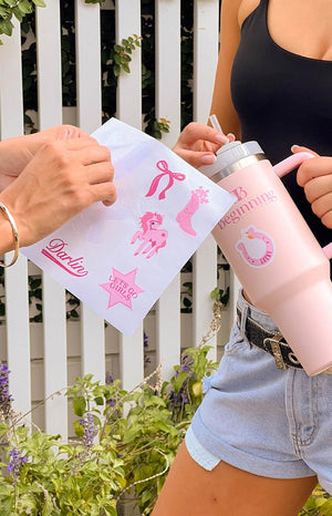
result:
[[[44,238],[92,203],[115,202],[108,148],[77,136],[41,145],[0,194],[17,223],[21,246]]]

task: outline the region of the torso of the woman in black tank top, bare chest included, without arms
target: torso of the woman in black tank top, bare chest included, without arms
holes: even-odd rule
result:
[[[293,144],[332,156],[331,0],[243,0],[239,23],[231,94],[242,141],[257,140],[273,164]],[[317,239],[329,244],[331,229],[312,213],[295,173],[283,182]]]

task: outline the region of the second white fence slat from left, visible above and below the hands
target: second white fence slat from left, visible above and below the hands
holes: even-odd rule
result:
[[[44,131],[62,123],[61,23],[60,1],[51,0],[46,9],[38,8],[37,68],[38,118]],[[52,59],[50,59],[52,49]],[[63,395],[52,396],[68,385],[65,291],[42,274],[45,431],[68,438],[68,406]]]

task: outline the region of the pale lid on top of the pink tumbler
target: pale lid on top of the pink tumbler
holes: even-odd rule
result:
[[[217,172],[229,167],[243,157],[255,154],[263,154],[261,146],[257,142],[230,142],[219,148],[216,162],[212,165],[203,166],[199,171],[207,177],[212,177]]]

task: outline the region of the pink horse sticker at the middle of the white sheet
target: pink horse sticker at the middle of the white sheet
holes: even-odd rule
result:
[[[163,217],[157,213],[153,214],[152,211],[146,211],[143,217],[141,217],[142,231],[135,233],[131,244],[135,244],[137,238],[142,240],[142,244],[134,256],[142,254],[147,255],[146,258],[151,258],[158,252],[162,247],[166,246],[168,231],[166,231],[166,229],[159,229],[162,223]]]

